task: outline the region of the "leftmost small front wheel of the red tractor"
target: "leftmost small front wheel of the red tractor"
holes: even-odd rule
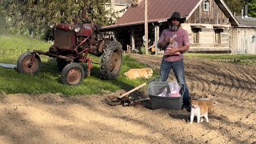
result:
[[[23,53],[17,60],[17,70],[22,74],[37,74],[40,65],[41,59],[38,54],[34,56],[30,51]]]

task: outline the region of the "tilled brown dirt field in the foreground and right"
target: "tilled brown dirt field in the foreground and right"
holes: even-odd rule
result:
[[[132,56],[159,70],[160,57]],[[190,93],[216,94],[208,123],[190,124],[186,110],[108,106],[105,95],[1,94],[0,143],[256,143],[256,67],[185,62]]]

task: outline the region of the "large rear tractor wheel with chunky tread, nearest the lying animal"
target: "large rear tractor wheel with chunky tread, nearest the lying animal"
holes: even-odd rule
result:
[[[122,65],[122,45],[112,41],[103,49],[101,62],[101,78],[114,79],[118,76]]]

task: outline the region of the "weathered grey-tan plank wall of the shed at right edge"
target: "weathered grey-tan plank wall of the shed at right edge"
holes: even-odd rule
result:
[[[231,28],[230,49],[232,54],[256,54],[256,28]]]

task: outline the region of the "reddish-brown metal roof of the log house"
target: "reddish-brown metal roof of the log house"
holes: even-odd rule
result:
[[[182,18],[186,18],[198,2],[202,0],[148,0],[148,21],[166,21],[171,14],[178,11]],[[104,26],[104,28],[130,26],[144,22],[144,0],[138,6],[130,6],[126,13],[118,19],[114,25]],[[103,28],[103,29],[104,29]]]

